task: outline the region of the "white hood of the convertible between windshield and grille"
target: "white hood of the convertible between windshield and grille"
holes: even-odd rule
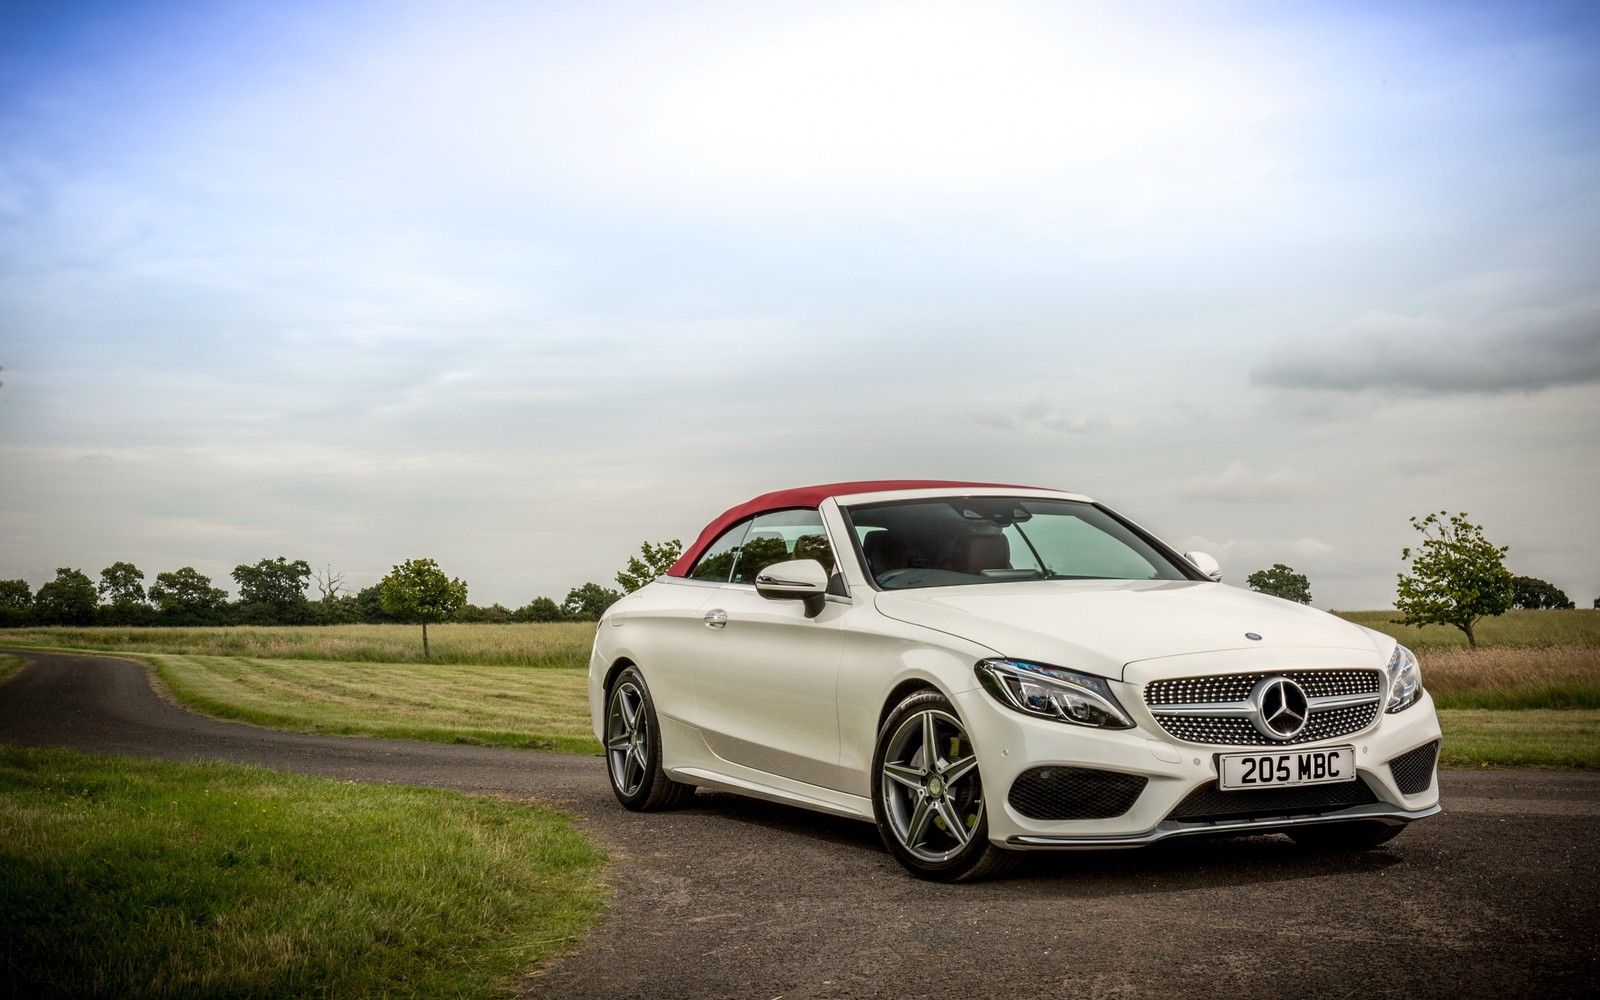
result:
[[[1378,634],[1325,611],[1214,582],[1024,581],[883,590],[875,603],[886,618],[958,635],[1002,656],[1118,680],[1131,662],[1190,653],[1387,651]]]

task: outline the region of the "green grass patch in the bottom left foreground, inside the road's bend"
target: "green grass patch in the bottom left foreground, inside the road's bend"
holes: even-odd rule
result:
[[[533,803],[0,747],[0,992],[510,995],[603,862]]]

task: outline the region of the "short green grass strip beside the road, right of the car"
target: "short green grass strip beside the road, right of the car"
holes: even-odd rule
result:
[[[1440,709],[1448,768],[1600,768],[1600,712]]]

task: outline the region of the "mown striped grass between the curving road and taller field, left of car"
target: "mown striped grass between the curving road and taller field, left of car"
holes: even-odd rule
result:
[[[275,730],[598,754],[571,669],[142,654],[186,704]]]

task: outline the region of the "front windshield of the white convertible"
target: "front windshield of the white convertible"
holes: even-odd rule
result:
[[[1106,510],[1077,501],[974,496],[846,507],[867,571],[886,590],[1024,579],[1189,579]]]

